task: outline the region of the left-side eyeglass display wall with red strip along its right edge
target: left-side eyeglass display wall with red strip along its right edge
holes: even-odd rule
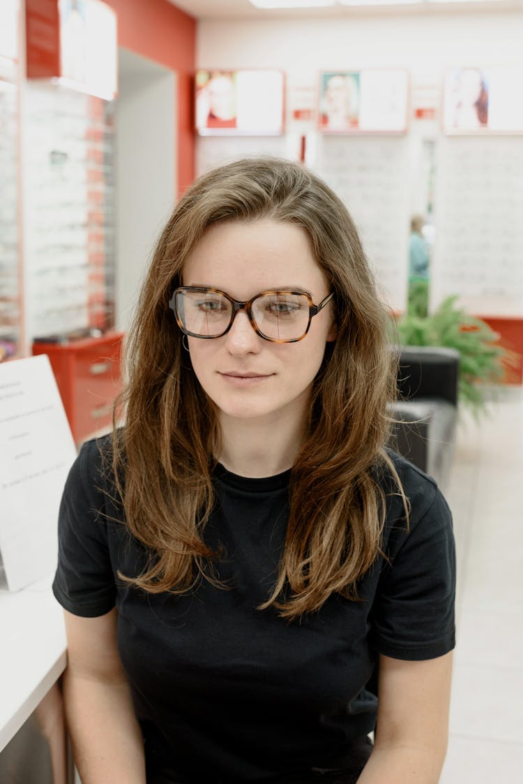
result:
[[[46,82],[26,95],[27,309],[33,339],[114,325],[113,104]]]

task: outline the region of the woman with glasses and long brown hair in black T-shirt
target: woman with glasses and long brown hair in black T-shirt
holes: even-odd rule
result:
[[[347,210],[300,165],[236,162],[179,201],[126,424],[83,446],[60,513],[83,784],[438,781],[453,535],[384,448],[386,324]]]

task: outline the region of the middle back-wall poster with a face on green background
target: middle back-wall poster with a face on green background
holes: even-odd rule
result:
[[[409,74],[400,68],[324,71],[318,127],[324,133],[405,133]]]

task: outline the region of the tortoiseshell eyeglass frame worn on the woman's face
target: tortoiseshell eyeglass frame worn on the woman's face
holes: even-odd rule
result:
[[[186,291],[202,292],[204,294],[207,293],[219,294],[220,296],[224,296],[225,299],[227,299],[233,306],[231,310],[229,325],[227,326],[227,328],[225,328],[223,332],[220,332],[219,335],[197,335],[196,332],[189,332],[189,330],[183,325],[182,317],[179,314],[178,307],[176,306],[176,295],[179,292],[186,292]],[[254,316],[251,310],[254,301],[262,296],[268,296],[268,295],[277,296],[280,294],[305,296],[305,298],[308,299],[308,324],[307,324],[307,328],[305,329],[305,332],[299,338],[288,338],[288,339],[269,338],[268,336],[263,334],[261,329],[256,324],[256,321],[254,320]],[[211,286],[179,286],[178,289],[175,289],[171,299],[169,300],[169,307],[175,314],[176,323],[179,325],[179,328],[182,330],[182,332],[185,335],[188,335],[193,338],[200,338],[202,340],[214,340],[216,338],[223,337],[224,335],[227,334],[227,332],[229,332],[229,329],[233,326],[233,321],[236,318],[236,315],[240,312],[240,310],[244,310],[245,314],[247,315],[247,318],[249,319],[251,327],[254,329],[254,332],[256,332],[256,334],[259,335],[264,340],[268,340],[269,343],[298,343],[300,340],[303,340],[307,335],[308,330],[310,329],[311,326],[312,318],[317,316],[319,314],[319,311],[323,310],[326,304],[328,304],[333,297],[334,297],[334,292],[330,292],[330,294],[327,294],[327,296],[324,297],[318,305],[315,305],[312,302],[312,296],[311,294],[309,294],[309,292],[304,292],[304,291],[297,292],[291,289],[268,289],[266,291],[260,292],[259,294],[256,294],[255,296],[251,297],[251,299],[247,299],[245,302],[241,302],[239,299],[234,299],[232,296],[229,296],[227,292],[223,292],[221,289],[213,289]]]

